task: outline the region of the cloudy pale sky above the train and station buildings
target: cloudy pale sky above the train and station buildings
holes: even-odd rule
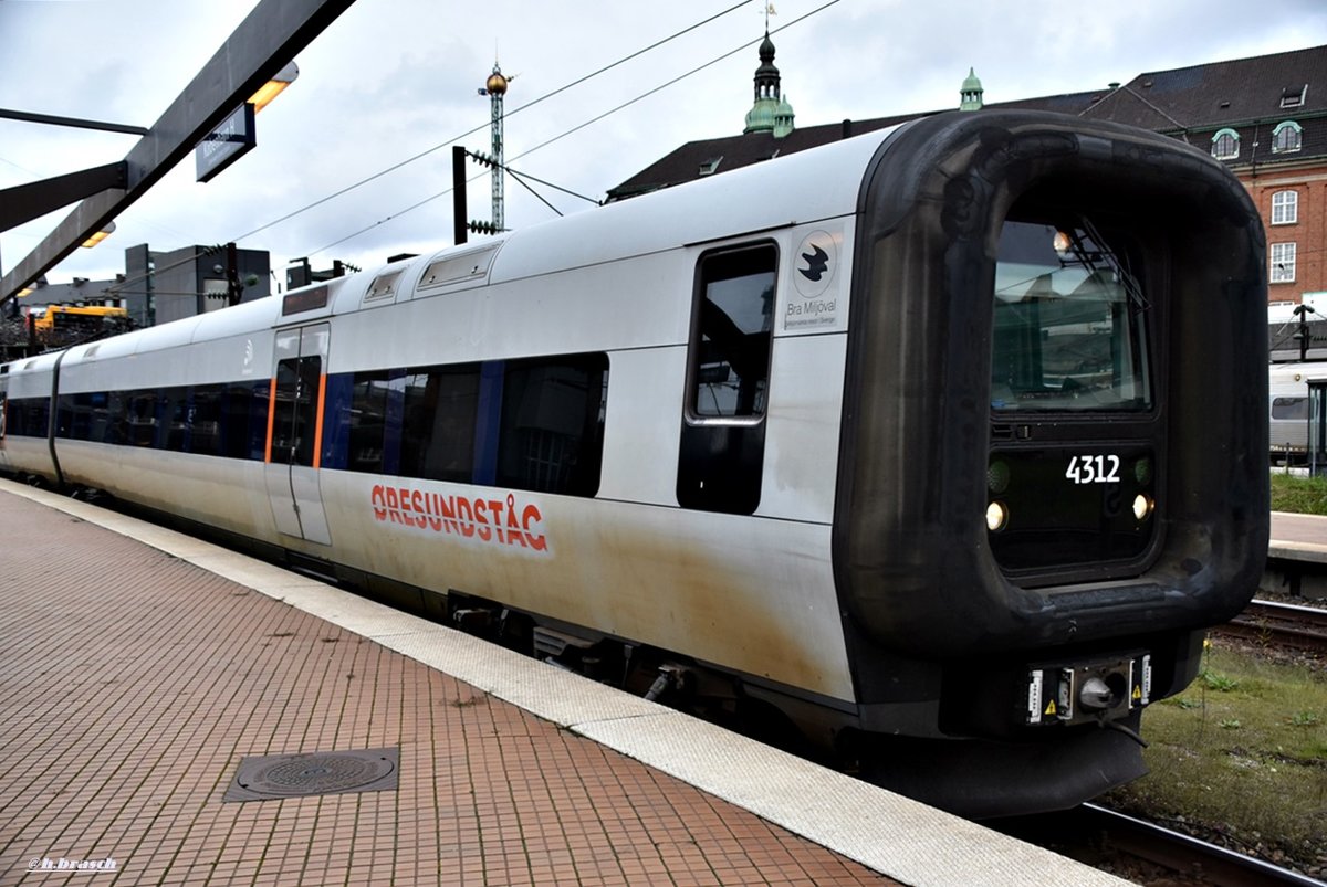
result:
[[[0,107],[150,126],[255,5],[0,0]],[[774,7],[775,61],[799,126],[954,107],[969,68],[982,78],[986,101],[999,102],[1327,44],[1322,0]],[[299,256],[314,268],[333,259],[372,266],[393,253],[446,245],[450,146],[487,150],[490,106],[478,89],[495,60],[515,74],[506,106],[508,163],[602,199],[685,142],[740,133],[764,9],[758,0],[357,0],[297,56],[300,77],[259,115],[255,151],[207,184],[194,180],[192,158],[184,160],[115,220],[110,240],[76,251],[48,278],[111,277],[123,270],[125,248],[142,243],[169,251],[239,240],[268,249],[281,280]],[[0,188],[118,160],[135,139],[0,119]],[[564,213],[592,208],[543,194]],[[468,200],[472,217],[487,217],[487,176],[471,183]],[[506,212],[512,228],[553,217],[511,178]],[[17,264],[66,213],[0,233],[0,266]]]

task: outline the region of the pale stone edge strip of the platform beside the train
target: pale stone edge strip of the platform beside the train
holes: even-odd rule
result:
[[[21,484],[0,481],[0,492],[126,536],[370,638],[912,887],[1131,883],[689,715],[196,537]]]

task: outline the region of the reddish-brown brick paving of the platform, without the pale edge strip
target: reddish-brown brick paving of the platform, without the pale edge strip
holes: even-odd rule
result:
[[[222,799],[248,756],[387,746],[401,750],[395,790]],[[41,868],[61,859],[115,868]],[[20,883],[897,882],[0,491],[0,884]]]

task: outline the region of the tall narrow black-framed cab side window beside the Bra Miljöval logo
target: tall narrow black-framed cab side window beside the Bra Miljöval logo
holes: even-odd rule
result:
[[[760,503],[779,251],[707,253],[697,265],[678,455],[683,508],[750,514]]]

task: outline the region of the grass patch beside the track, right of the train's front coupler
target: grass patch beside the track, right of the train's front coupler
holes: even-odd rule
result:
[[[1107,806],[1299,867],[1327,858],[1327,674],[1214,644],[1188,689],[1144,712],[1143,736],[1152,772]]]

